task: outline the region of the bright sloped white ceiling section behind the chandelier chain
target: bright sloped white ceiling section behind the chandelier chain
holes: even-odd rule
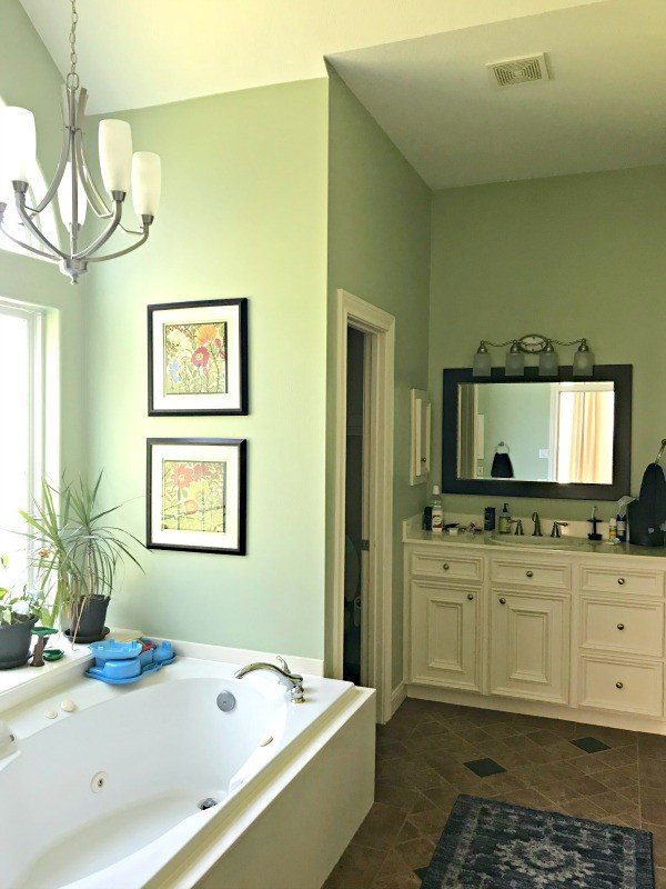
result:
[[[21,2],[64,73],[69,0]],[[79,71],[90,92],[90,110],[103,113],[323,77],[327,53],[579,2],[79,0]]]

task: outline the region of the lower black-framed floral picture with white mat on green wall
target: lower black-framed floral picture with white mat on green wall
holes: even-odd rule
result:
[[[246,441],[149,438],[145,546],[245,555]]]

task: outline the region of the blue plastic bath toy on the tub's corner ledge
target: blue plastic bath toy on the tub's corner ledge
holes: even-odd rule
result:
[[[85,676],[111,686],[138,682],[142,676],[154,673],[175,660],[171,642],[153,642],[141,639],[133,642],[117,642],[107,639],[89,646],[94,655],[94,666]]]

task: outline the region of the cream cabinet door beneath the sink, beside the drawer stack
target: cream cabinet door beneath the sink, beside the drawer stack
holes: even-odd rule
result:
[[[568,596],[492,591],[493,695],[566,703],[568,662]]]

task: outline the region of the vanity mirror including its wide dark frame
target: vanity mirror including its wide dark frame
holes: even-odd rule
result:
[[[628,492],[632,367],[591,378],[444,371],[444,491],[614,500]]]

